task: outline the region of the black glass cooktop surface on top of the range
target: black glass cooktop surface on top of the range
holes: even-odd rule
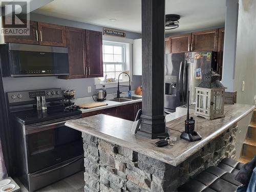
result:
[[[82,112],[80,110],[66,111],[65,106],[52,106],[47,110],[27,110],[13,112],[12,115],[17,119],[18,122],[28,125],[33,123],[39,123],[49,120],[54,120],[63,117],[69,117],[79,115]]]

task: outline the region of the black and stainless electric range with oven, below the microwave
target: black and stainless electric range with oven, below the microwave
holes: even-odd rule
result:
[[[47,110],[36,110],[36,97],[45,96]],[[81,132],[65,122],[81,118],[78,109],[66,110],[61,89],[7,93],[13,156],[19,179],[37,190],[83,169]]]

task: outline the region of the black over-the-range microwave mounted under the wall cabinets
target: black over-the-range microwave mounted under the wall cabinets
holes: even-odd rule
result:
[[[27,44],[0,45],[3,77],[69,74],[68,48]]]

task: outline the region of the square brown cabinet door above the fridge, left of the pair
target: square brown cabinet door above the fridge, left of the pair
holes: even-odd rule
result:
[[[170,53],[190,51],[191,33],[170,36]]]

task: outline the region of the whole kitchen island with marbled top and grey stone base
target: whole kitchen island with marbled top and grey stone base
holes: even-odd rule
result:
[[[191,176],[225,157],[236,158],[237,122],[250,114],[254,105],[225,105],[224,118],[195,118],[195,131],[202,140],[189,142],[180,133],[174,146],[156,147],[158,139],[131,133],[132,121],[108,116],[67,121],[66,126],[82,132],[84,142],[84,191],[176,191]],[[186,116],[166,123],[170,129],[184,131]]]

